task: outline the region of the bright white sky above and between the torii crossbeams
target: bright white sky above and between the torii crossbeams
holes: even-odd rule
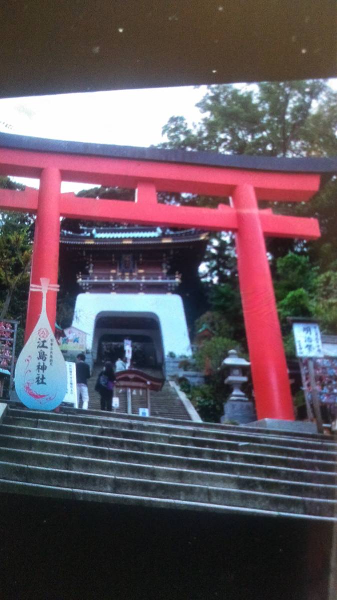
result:
[[[329,83],[337,90],[337,79]],[[205,92],[206,86],[185,86],[4,98],[0,99],[0,131],[79,142],[157,145],[163,141],[161,130],[170,116],[185,116],[189,125],[200,119],[195,104]],[[37,179],[16,180],[38,187]],[[62,182],[62,191],[92,185]]]

